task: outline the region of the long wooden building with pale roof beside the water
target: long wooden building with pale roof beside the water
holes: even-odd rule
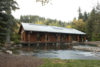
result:
[[[22,43],[84,42],[86,33],[72,28],[21,23],[19,34]]]

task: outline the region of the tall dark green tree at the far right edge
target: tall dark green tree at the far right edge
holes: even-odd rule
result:
[[[87,20],[87,34],[89,35],[90,40],[100,40],[100,6],[97,5],[94,8]]]

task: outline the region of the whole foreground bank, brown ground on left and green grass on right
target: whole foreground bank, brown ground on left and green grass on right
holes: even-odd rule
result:
[[[100,60],[61,60],[0,53],[0,67],[100,67]]]

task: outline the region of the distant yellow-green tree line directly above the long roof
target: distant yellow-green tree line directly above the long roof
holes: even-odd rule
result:
[[[20,22],[44,24],[44,25],[58,26],[58,27],[65,27],[67,25],[66,22],[52,20],[52,19],[45,19],[43,17],[32,16],[32,15],[21,16]]]

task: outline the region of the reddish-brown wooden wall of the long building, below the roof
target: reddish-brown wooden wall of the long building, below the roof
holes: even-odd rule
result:
[[[38,36],[40,39],[38,40]],[[74,36],[74,38],[73,38]],[[72,42],[76,40],[78,42],[85,41],[86,37],[82,35],[71,35],[71,34],[56,34],[56,33],[40,33],[40,32],[21,32],[21,41],[23,42]]]

